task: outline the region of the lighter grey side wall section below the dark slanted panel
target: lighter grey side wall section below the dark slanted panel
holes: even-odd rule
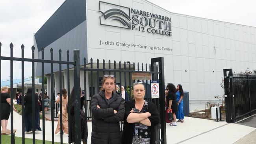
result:
[[[45,48],[45,59],[50,59],[50,49],[53,48],[53,59],[59,60],[59,49],[62,50],[61,60],[67,61],[67,50],[69,50],[69,61],[73,61],[75,49],[80,50],[80,65],[83,65],[83,58],[87,59],[87,35],[86,20],[68,33],[52,42]],[[38,59],[41,59],[41,51],[38,53]],[[88,62],[88,61],[87,61]],[[37,63],[36,76],[41,76],[41,63]],[[73,66],[70,65],[70,68]],[[62,70],[67,69],[67,65],[62,65]],[[45,64],[45,74],[50,73],[50,64]],[[59,65],[54,64],[54,72],[59,70]]]

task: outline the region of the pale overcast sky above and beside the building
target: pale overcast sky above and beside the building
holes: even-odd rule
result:
[[[14,44],[14,57],[31,58],[33,33],[50,18],[65,0],[0,0],[1,55],[9,56],[9,44]],[[256,26],[256,0],[148,0],[173,13],[210,18],[248,26]],[[1,78],[9,79],[9,61],[1,63]],[[21,78],[21,63],[14,63],[14,78]],[[31,63],[25,63],[25,77],[31,76]]]

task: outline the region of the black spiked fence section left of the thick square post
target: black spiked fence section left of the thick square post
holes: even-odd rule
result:
[[[25,91],[24,91],[24,62],[31,62],[31,66],[32,66],[32,94],[35,94],[35,62],[36,63],[41,63],[41,70],[42,70],[42,79],[44,79],[44,76],[45,76],[45,73],[44,73],[44,70],[45,70],[45,63],[50,63],[50,67],[51,67],[51,72],[50,72],[50,75],[51,75],[51,89],[50,89],[50,94],[48,92],[48,95],[50,95],[51,97],[51,100],[50,100],[50,105],[52,108],[54,108],[54,87],[53,87],[53,75],[54,75],[54,72],[53,72],[53,64],[58,64],[59,65],[59,73],[61,74],[61,65],[67,65],[67,73],[68,73],[68,77],[69,77],[69,65],[75,65],[76,62],[70,62],[69,61],[69,51],[67,51],[67,61],[61,61],[61,50],[59,50],[59,61],[55,61],[53,60],[53,49],[51,48],[50,49],[50,57],[51,59],[50,60],[46,60],[44,59],[44,48],[41,49],[41,54],[42,54],[42,59],[35,59],[35,47],[32,46],[32,58],[24,58],[24,48],[25,46],[22,44],[21,46],[21,57],[13,57],[13,44],[11,43],[10,44],[10,56],[9,57],[6,57],[6,56],[1,56],[1,42],[0,42],[0,64],[1,64],[1,60],[7,60],[7,61],[10,61],[10,95],[11,95],[11,105],[10,105],[10,109],[11,109],[11,131],[10,131],[10,134],[11,134],[11,144],[14,144],[14,133],[13,133],[13,96],[15,95],[13,93],[13,61],[20,61],[21,62],[21,76],[22,76],[22,144],[25,144],[25,114],[24,114],[24,95],[25,95]],[[76,53],[76,51],[74,51],[74,53]],[[1,66],[0,66],[0,72],[1,72]],[[61,76],[61,75],[60,75]],[[1,73],[0,73],[0,80],[1,80]],[[69,78],[67,79],[67,83],[68,83],[68,87],[67,87],[67,90],[68,90],[68,96],[70,94],[69,92]],[[1,85],[0,85],[1,87]],[[60,80],[60,91],[61,91],[61,80]],[[45,83],[44,81],[42,81],[42,89],[44,90],[45,89]],[[77,96],[80,98],[80,94]],[[45,97],[42,96],[42,102],[44,102],[45,100]],[[0,93],[0,101],[1,101],[1,93]],[[32,96],[32,102],[35,102],[35,97]],[[0,107],[1,107],[2,103],[0,103]],[[60,97],[60,105],[62,105],[62,100],[61,100],[61,97]],[[37,106],[37,103],[32,103],[32,129],[33,129],[33,144],[35,144],[35,107]],[[42,104],[42,113],[43,113],[43,127],[42,127],[42,137],[43,137],[43,144],[45,144],[45,105]],[[61,109],[61,107],[60,107]],[[70,114],[70,113],[69,113]],[[60,111],[60,118],[62,119],[62,111]],[[51,111],[51,121],[52,121],[52,127],[51,127],[51,131],[47,131],[48,133],[51,132],[52,133],[52,144],[54,144],[54,111],[52,110]],[[62,120],[61,120],[62,121]],[[75,124],[76,125],[76,124]],[[20,129],[19,129],[20,131]],[[2,133],[2,130],[0,131],[0,134]],[[69,131],[70,133],[70,131]],[[2,135],[0,135],[0,142],[2,140]],[[61,137],[60,137],[60,141],[61,143],[63,143],[63,129],[62,129],[62,123],[61,123]],[[70,137],[69,137],[69,143],[70,143]]]

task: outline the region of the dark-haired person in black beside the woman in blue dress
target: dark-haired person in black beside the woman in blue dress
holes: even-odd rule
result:
[[[178,111],[178,103],[176,100],[176,87],[172,83],[169,83],[166,87],[166,103],[169,111],[172,109],[173,113],[173,122],[170,123],[171,126],[177,126],[176,123],[176,115],[175,113]]]

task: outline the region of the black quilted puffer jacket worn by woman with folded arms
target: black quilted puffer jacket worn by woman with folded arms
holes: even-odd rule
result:
[[[117,111],[116,114],[114,110]],[[91,111],[93,114],[91,144],[121,144],[119,121],[124,118],[125,113],[122,97],[113,92],[108,103],[104,91],[101,91],[93,96]]]

